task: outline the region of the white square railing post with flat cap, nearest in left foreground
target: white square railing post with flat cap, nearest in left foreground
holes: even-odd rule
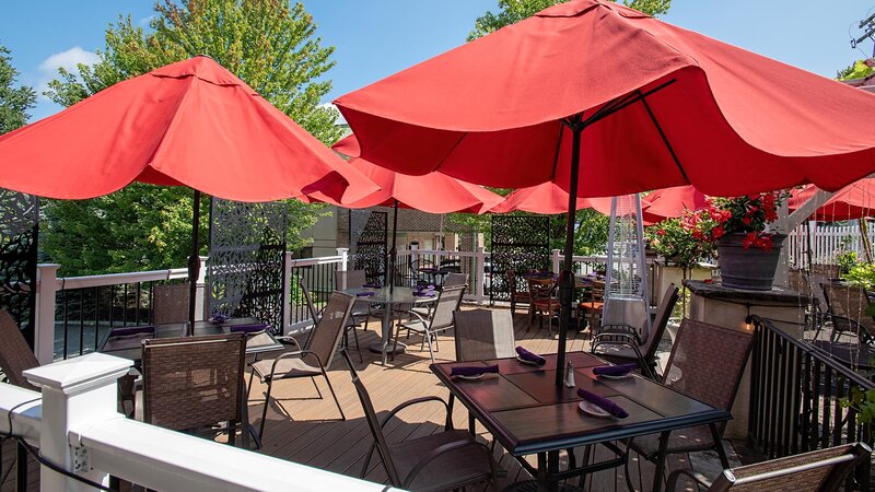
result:
[[[75,429],[122,418],[116,410],[116,379],[129,370],[127,359],[90,353],[25,371],[27,380],[43,391],[39,454],[68,471],[107,484],[109,476],[95,470],[88,452],[68,435]],[[39,470],[39,487],[51,491],[94,490],[45,466]]]

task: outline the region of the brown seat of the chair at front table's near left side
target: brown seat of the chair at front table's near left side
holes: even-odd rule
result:
[[[389,454],[405,480],[407,475],[428,453],[445,444],[472,442],[467,431],[448,431],[389,444]],[[409,490],[444,491],[458,489],[465,483],[486,480],[491,473],[486,453],[474,446],[448,452],[432,460],[410,483]]]

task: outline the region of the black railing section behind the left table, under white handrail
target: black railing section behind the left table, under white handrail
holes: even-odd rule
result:
[[[107,331],[152,323],[152,286],[168,281],[143,281],[57,292],[55,359],[70,359],[97,350]]]

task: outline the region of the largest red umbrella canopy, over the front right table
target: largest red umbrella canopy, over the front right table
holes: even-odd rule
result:
[[[362,157],[495,187],[569,189],[575,116],[581,197],[838,189],[875,171],[875,95],[598,0],[551,7],[336,104]]]

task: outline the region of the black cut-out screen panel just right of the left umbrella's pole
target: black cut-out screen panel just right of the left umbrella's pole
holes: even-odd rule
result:
[[[210,313],[253,317],[282,330],[285,226],[285,203],[211,200]]]

